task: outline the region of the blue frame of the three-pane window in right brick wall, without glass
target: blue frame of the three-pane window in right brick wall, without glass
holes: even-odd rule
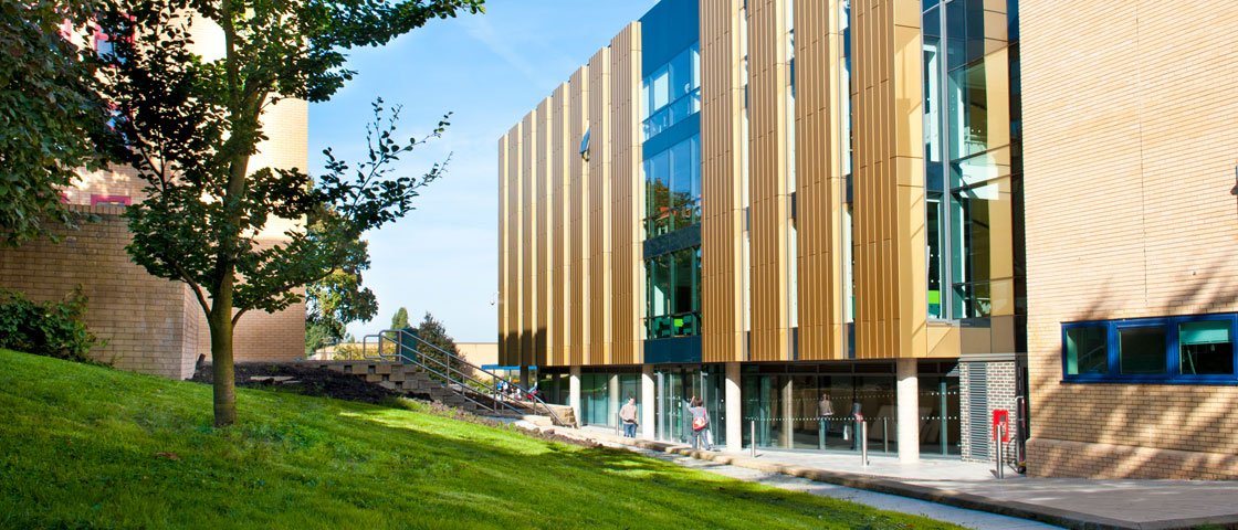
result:
[[[1233,350],[1234,373],[1184,374],[1181,364],[1180,329],[1182,324],[1221,321],[1229,324],[1229,343],[1238,346],[1238,313],[1210,313],[1197,315],[1155,316],[1115,320],[1081,320],[1061,324],[1060,350],[1062,383],[1120,383],[1120,384],[1212,384],[1238,385],[1238,347]],[[1119,362],[1119,331],[1129,327],[1160,326],[1165,330],[1165,373],[1122,374]],[[1067,372],[1066,334],[1080,327],[1103,327],[1106,331],[1107,371],[1101,374],[1071,374]]]

